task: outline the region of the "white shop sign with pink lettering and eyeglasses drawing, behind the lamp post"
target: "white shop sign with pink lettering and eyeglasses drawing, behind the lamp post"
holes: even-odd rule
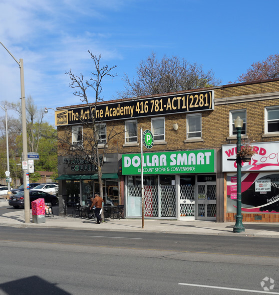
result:
[[[252,143],[256,152],[248,163],[242,163],[241,171],[279,171],[279,142],[258,142]],[[236,144],[222,145],[222,171],[235,172]]]

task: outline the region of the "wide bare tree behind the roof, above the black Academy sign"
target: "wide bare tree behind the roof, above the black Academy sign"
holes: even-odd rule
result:
[[[164,56],[160,61],[156,54],[141,61],[136,79],[125,74],[125,90],[119,92],[121,98],[169,93],[189,89],[219,85],[212,70],[204,72],[202,65],[190,64],[177,56]]]

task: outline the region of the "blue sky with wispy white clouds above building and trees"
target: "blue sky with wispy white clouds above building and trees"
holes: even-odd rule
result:
[[[212,69],[221,85],[234,81],[278,53],[278,11],[277,0],[1,0],[0,41],[24,60],[26,97],[56,108],[80,103],[65,72],[89,79],[88,50],[117,66],[118,76],[103,83],[104,100],[124,89],[124,73],[135,77],[152,51]],[[0,103],[16,102],[19,66],[1,45],[0,65]],[[46,119],[53,123],[53,112]]]

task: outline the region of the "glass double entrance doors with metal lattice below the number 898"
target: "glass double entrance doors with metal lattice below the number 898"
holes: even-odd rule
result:
[[[216,182],[197,183],[196,219],[216,220]]]

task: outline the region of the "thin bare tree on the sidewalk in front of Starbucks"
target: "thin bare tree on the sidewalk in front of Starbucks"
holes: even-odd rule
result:
[[[109,141],[115,137],[117,133],[113,127],[109,130],[107,128],[106,141],[102,141],[100,134],[104,128],[104,124],[96,116],[96,109],[98,103],[103,101],[100,96],[102,93],[102,81],[105,77],[115,77],[112,74],[112,70],[116,66],[109,67],[108,65],[102,66],[100,64],[101,55],[99,57],[93,55],[88,51],[93,61],[94,72],[90,80],[86,80],[81,74],[76,76],[71,70],[66,72],[70,76],[70,87],[74,89],[73,94],[80,97],[80,100],[87,104],[89,108],[89,118],[82,120],[84,127],[83,133],[80,134],[77,130],[77,137],[82,139],[82,144],[76,144],[72,142],[72,127],[61,126],[58,129],[59,134],[59,147],[63,150],[65,155],[69,155],[75,158],[86,159],[89,163],[95,165],[98,171],[98,182],[100,188],[100,196],[103,198],[103,182],[102,182],[102,167],[104,164],[104,155],[106,153],[106,145]],[[93,97],[89,94],[93,93]],[[124,130],[123,130],[124,132]]]

